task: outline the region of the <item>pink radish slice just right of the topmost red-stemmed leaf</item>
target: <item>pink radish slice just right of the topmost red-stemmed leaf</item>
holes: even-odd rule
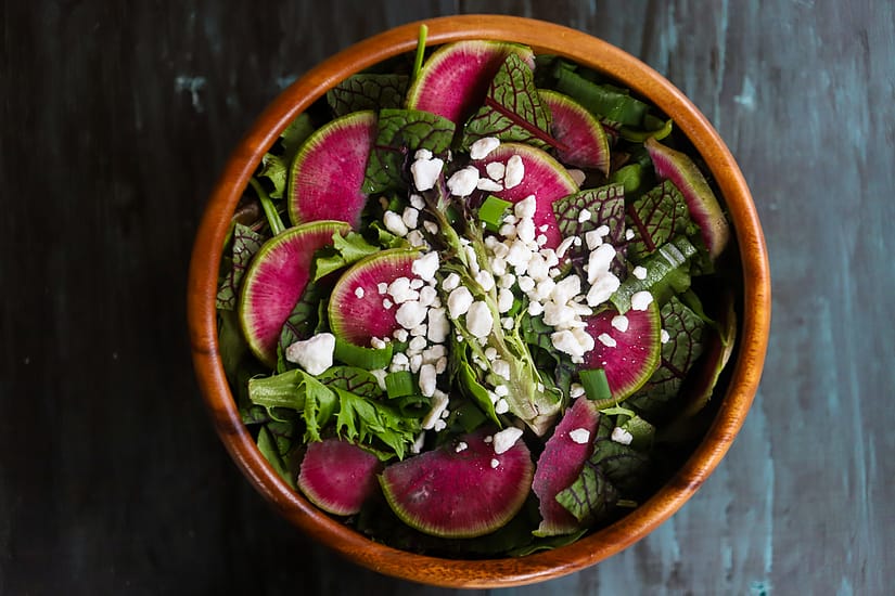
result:
[[[538,93],[553,117],[550,131],[564,147],[557,150],[559,160],[609,176],[609,137],[600,121],[567,95],[547,89]]]

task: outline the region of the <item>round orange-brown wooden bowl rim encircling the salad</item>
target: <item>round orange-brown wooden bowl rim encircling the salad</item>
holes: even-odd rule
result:
[[[215,311],[221,247],[231,216],[261,156],[280,132],[328,89],[385,59],[411,52],[419,23],[371,37],[334,55],[289,87],[261,114],[228,161],[208,202],[195,239],[188,313],[199,386],[215,427],[250,482],[290,522],[355,563],[414,582],[452,587],[500,587],[558,578],[618,553],[668,519],[689,500],[727,453],[758,387],[770,326],[770,277],[765,241],[740,168],[700,111],[665,78],[637,59],[581,31],[527,18],[465,15],[434,18],[429,44],[495,39],[565,56],[615,78],[674,118],[704,159],[726,204],[739,248],[738,349],[728,364],[724,394],[716,392],[714,419],[680,469],[651,498],[615,523],[570,546],[521,558],[457,560],[383,546],[321,513],[283,482],[255,446],[240,419],[218,351]]]

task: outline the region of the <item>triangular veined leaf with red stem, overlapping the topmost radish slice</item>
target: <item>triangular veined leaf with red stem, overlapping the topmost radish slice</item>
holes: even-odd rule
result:
[[[466,121],[463,146],[486,137],[541,148],[557,146],[550,122],[550,109],[541,103],[532,68],[510,53],[488,88],[485,105]]]

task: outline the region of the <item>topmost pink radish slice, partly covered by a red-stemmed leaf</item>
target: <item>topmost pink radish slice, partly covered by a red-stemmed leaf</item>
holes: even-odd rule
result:
[[[514,43],[473,40],[442,46],[408,90],[407,107],[463,124],[482,105],[495,74],[511,53],[534,68],[532,50]]]

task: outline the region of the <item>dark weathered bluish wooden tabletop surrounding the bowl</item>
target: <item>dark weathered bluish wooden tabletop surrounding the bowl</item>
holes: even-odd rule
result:
[[[457,12],[665,74],[740,160],[775,291],[754,409],[698,495],[597,567],[495,592],[891,594],[895,11],[870,0],[0,0],[0,594],[451,593],[353,567],[248,487],[184,293],[205,197],[277,92]]]

